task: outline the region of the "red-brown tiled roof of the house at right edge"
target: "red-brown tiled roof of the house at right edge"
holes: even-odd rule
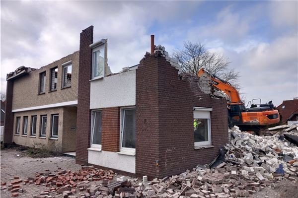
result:
[[[282,107],[285,106],[283,109]],[[284,100],[281,105],[277,107],[278,111],[282,115],[283,123],[286,123],[290,116],[298,111],[298,99]]]

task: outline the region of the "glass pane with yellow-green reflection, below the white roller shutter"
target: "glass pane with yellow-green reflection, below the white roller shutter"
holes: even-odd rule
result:
[[[208,141],[208,119],[194,119],[195,142]]]

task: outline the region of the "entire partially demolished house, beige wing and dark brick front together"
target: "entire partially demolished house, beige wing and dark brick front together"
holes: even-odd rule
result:
[[[228,139],[226,100],[153,42],[139,65],[111,73],[107,40],[93,42],[90,26],[79,52],[9,74],[5,142],[55,142],[78,164],[149,178],[210,163]]]

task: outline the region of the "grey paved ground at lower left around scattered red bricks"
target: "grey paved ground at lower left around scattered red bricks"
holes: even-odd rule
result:
[[[19,156],[17,156],[19,155]],[[31,158],[23,156],[22,151],[15,149],[4,149],[0,151],[0,178],[1,183],[6,182],[8,185],[15,176],[18,176],[21,180],[26,180],[28,177],[35,178],[36,173],[43,173],[45,170],[54,172],[58,167],[62,170],[78,171],[80,165],[75,164],[75,159],[67,156],[59,157],[47,157],[47,158]],[[20,183],[23,193],[19,193],[18,197],[32,198],[35,195],[39,195],[40,192],[48,190],[48,188],[35,185]],[[6,188],[7,186],[1,186],[0,197],[11,198],[11,193]],[[62,197],[62,195],[55,195],[53,197]]]

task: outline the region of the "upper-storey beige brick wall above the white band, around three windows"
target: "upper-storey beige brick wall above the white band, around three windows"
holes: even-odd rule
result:
[[[13,82],[12,110],[77,100],[79,52],[68,55]],[[72,85],[62,88],[63,64],[72,61]],[[50,71],[58,66],[57,89],[50,91]],[[40,73],[46,71],[45,93],[39,94]]]

